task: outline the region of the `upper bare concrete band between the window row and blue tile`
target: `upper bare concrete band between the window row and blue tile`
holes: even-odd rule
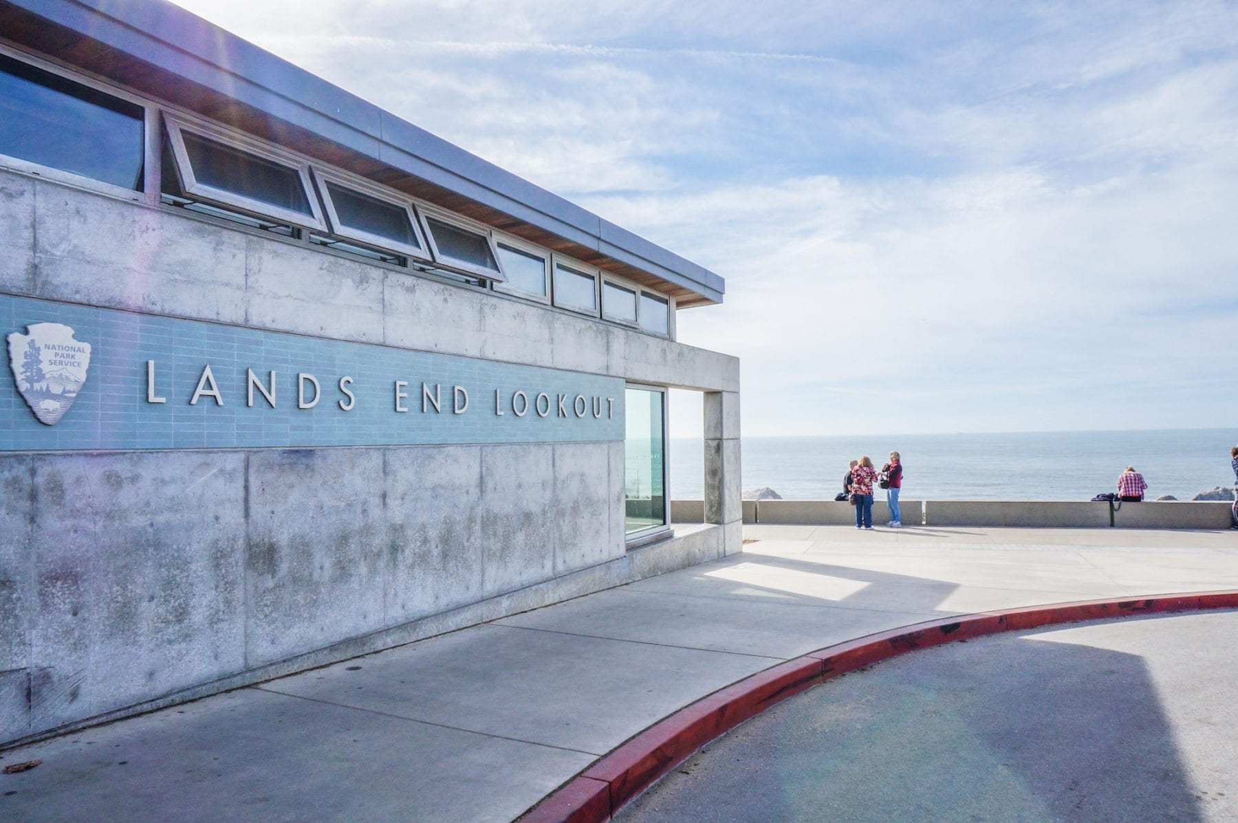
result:
[[[0,205],[9,294],[739,392],[734,357],[275,235],[5,170]]]

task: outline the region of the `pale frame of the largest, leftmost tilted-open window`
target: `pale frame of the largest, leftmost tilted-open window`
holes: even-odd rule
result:
[[[314,228],[319,232],[331,231],[327,228],[327,222],[323,219],[322,214],[322,206],[319,206],[318,197],[314,195],[313,183],[310,178],[308,160],[290,151],[277,149],[270,144],[261,143],[239,131],[233,131],[232,129],[225,129],[196,118],[191,119],[167,109],[163,110],[163,123],[167,126],[168,140],[172,145],[172,156],[176,160],[176,167],[181,175],[181,183],[184,187],[184,193],[206,201],[214,201],[224,206],[232,206],[245,212],[253,212],[254,214],[261,214],[262,217],[271,217],[282,223]],[[301,180],[301,187],[305,191],[306,201],[310,203],[310,211],[312,214],[303,214],[290,208],[280,208],[279,206],[271,206],[270,203],[264,203],[260,200],[253,200],[250,197],[230,192],[225,188],[215,188],[214,186],[198,182],[193,174],[193,165],[189,162],[189,155],[184,149],[184,138],[181,134],[182,130],[189,131],[199,138],[206,138],[207,140],[223,143],[224,145],[240,151],[258,155],[264,160],[270,160],[271,162],[276,162],[296,171]]]

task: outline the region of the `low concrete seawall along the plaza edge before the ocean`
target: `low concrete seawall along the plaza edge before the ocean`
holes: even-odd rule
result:
[[[912,526],[1109,528],[1109,504],[1083,501],[901,501],[903,523]],[[699,522],[701,501],[671,501],[676,522]],[[1113,526],[1148,529],[1223,529],[1231,503],[1165,501],[1125,503]],[[885,501],[874,501],[873,522],[890,519]],[[849,503],[811,500],[744,501],[744,523],[766,526],[847,526],[855,522]]]

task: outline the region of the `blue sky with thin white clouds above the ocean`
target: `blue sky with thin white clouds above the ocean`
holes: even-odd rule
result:
[[[722,274],[745,434],[1234,425],[1236,4],[180,5]]]

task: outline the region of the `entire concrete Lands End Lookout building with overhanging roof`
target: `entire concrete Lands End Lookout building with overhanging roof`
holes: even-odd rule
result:
[[[161,0],[0,0],[0,745],[738,552],[723,288]]]

